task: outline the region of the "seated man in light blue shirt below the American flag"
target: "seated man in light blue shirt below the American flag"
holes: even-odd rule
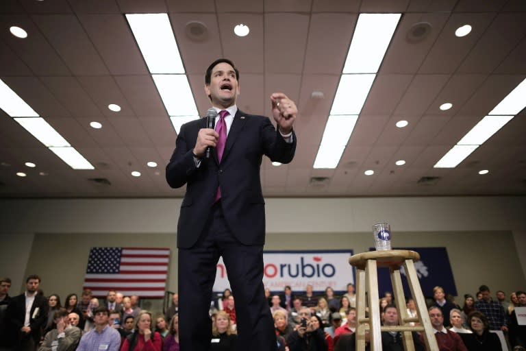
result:
[[[77,351],[118,351],[121,348],[121,335],[109,326],[110,311],[106,306],[95,309],[95,328],[86,332],[80,339]]]

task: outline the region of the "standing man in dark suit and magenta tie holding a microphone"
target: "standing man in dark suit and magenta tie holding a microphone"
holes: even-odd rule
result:
[[[186,184],[177,225],[181,350],[210,348],[208,308],[220,256],[236,297],[240,350],[276,349],[262,284],[265,213],[260,166],[263,155],[281,163],[294,157],[297,108],[283,93],[273,93],[276,129],[267,117],[238,110],[238,80],[230,60],[210,64],[205,93],[218,112],[216,129],[206,128],[205,119],[182,125],[166,166],[170,186]],[[208,147],[210,158],[205,157]]]

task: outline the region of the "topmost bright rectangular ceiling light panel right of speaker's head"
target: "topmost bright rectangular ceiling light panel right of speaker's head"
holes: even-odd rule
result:
[[[360,14],[343,73],[377,73],[401,14]]]

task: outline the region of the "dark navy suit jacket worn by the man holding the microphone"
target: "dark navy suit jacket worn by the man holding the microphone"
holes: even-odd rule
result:
[[[177,224],[177,247],[190,248],[203,230],[217,187],[230,230],[245,245],[263,245],[265,241],[264,199],[261,189],[262,156],[288,163],[296,149],[274,128],[268,117],[246,114],[238,110],[227,136],[225,151],[218,162],[216,149],[210,159],[203,158],[196,167],[192,150],[197,133],[206,128],[206,119],[181,126],[175,151],[166,166],[166,180],[173,188],[186,184]]]

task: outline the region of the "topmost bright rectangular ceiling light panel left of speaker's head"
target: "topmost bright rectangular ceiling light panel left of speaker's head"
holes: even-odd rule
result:
[[[150,73],[184,73],[168,14],[126,14]]]

